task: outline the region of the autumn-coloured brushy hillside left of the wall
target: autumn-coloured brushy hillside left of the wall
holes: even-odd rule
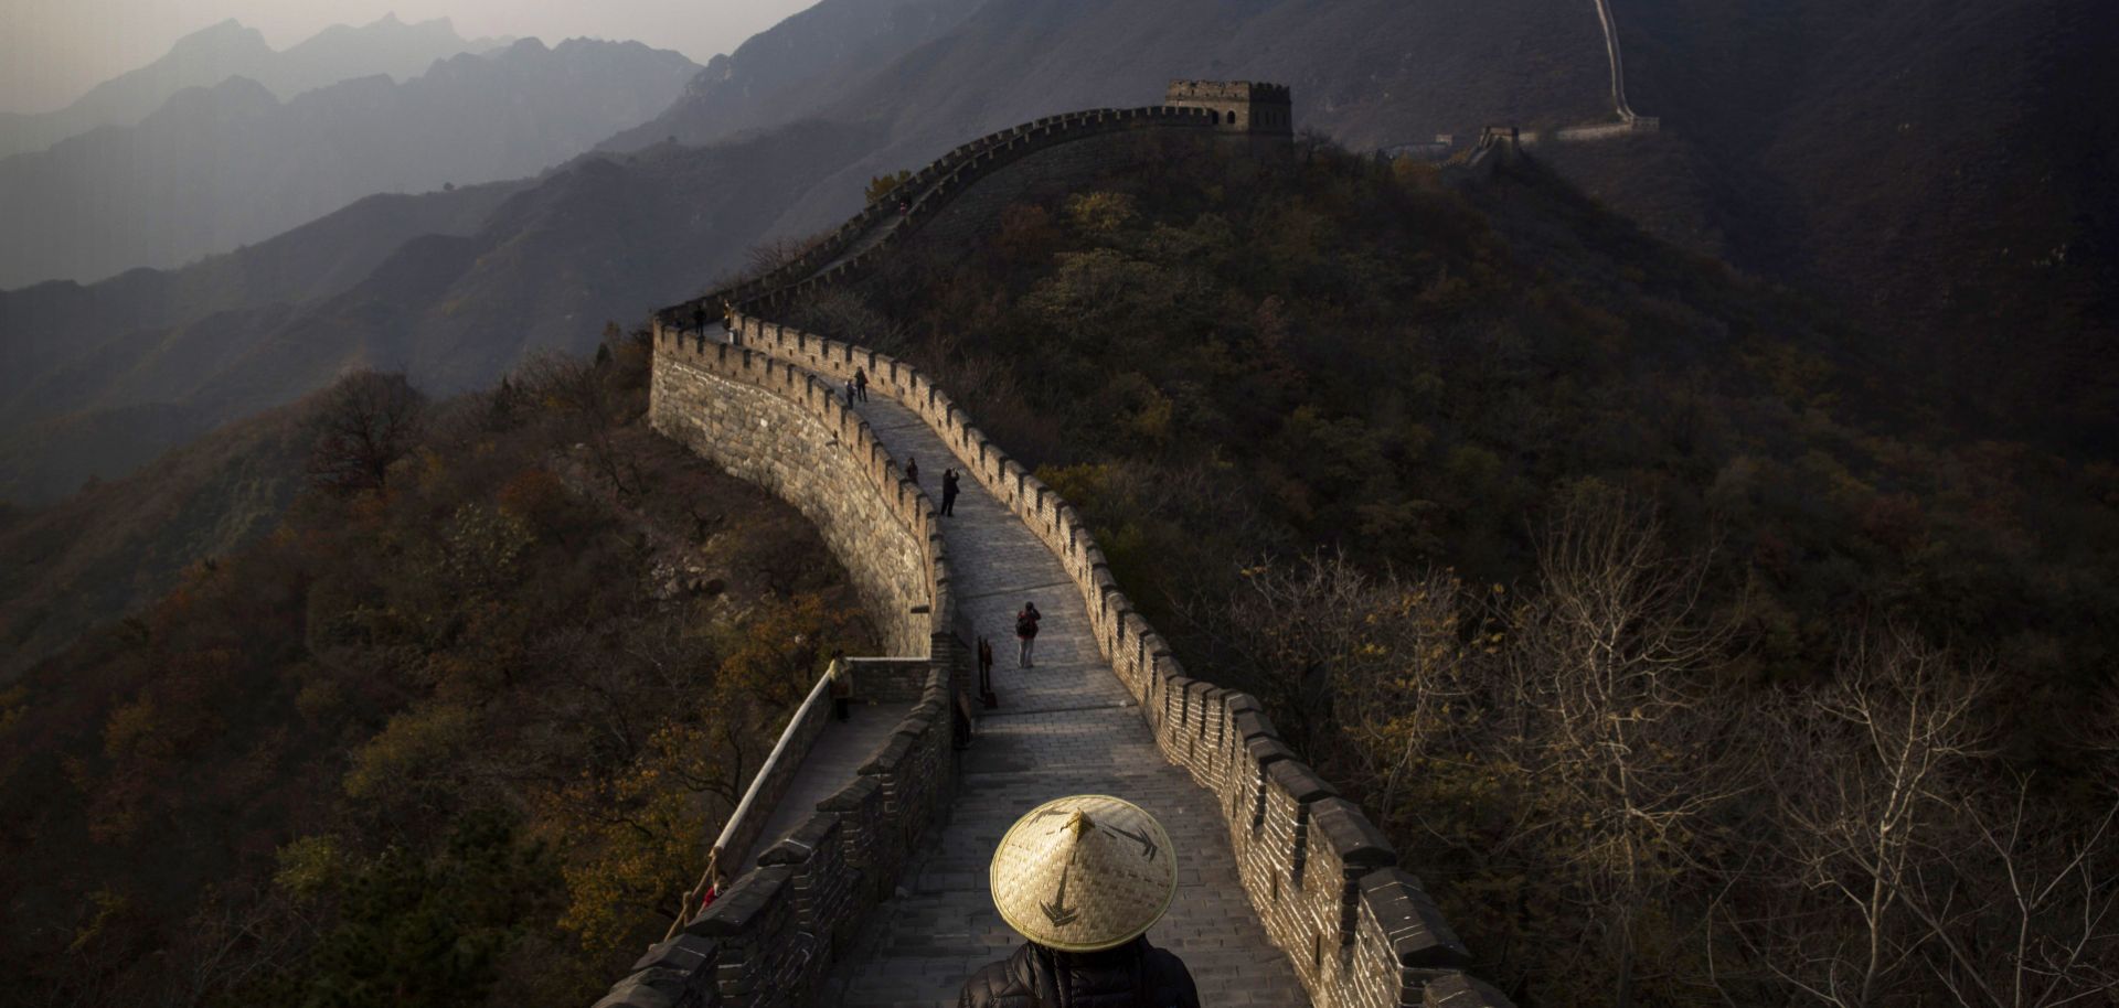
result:
[[[644,428],[646,356],[335,383],[269,536],[0,688],[8,1002],[589,1004],[661,938],[875,644],[793,508]]]

